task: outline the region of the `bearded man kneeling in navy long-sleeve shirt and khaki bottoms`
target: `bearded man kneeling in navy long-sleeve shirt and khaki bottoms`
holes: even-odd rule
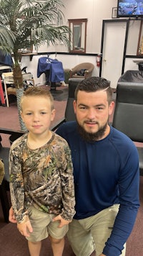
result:
[[[132,140],[108,124],[114,109],[104,78],[87,78],[75,91],[77,122],[56,131],[69,143],[76,214],[68,238],[77,256],[125,255],[139,208],[139,159]],[[94,239],[94,245],[92,243]]]

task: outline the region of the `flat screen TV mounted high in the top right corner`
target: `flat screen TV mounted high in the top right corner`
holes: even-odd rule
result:
[[[118,0],[117,17],[143,18],[143,0]]]

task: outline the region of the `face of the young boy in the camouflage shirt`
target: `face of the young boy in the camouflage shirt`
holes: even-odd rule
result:
[[[54,120],[55,109],[51,111],[51,101],[44,96],[26,96],[22,101],[21,117],[26,128],[33,134],[49,130]]]

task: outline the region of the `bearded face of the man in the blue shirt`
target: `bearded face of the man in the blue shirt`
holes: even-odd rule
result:
[[[113,109],[114,101],[108,103],[106,91],[78,91],[77,101],[74,101],[74,112],[79,126],[83,132],[93,134],[97,140],[101,140],[109,133],[107,124]]]

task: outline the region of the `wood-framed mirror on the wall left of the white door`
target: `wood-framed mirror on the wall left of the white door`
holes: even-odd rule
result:
[[[69,35],[69,52],[86,52],[87,19],[68,19],[71,34]]]

